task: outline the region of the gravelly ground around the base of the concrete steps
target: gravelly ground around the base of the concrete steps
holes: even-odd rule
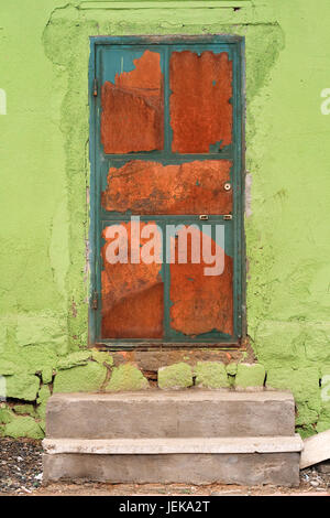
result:
[[[330,462],[300,472],[299,488],[275,486],[191,486],[184,484],[67,484],[42,486],[42,446],[29,439],[0,439],[0,495],[328,495],[330,496]]]

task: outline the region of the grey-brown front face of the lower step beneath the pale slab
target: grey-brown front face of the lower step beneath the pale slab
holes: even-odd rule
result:
[[[299,453],[43,455],[44,482],[299,484]]]

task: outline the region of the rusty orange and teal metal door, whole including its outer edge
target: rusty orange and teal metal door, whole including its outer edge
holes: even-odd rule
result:
[[[240,342],[242,46],[233,36],[91,40],[91,343]],[[201,251],[196,260],[193,240],[207,239],[223,252],[221,274],[205,273]],[[151,248],[154,260],[142,260]]]

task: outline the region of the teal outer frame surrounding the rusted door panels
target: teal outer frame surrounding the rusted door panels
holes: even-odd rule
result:
[[[106,212],[101,208],[101,191],[105,188],[103,180],[107,174],[108,160],[103,154],[100,141],[100,76],[102,71],[101,51],[102,48],[122,48],[124,46],[139,46],[142,48],[160,47],[174,45],[175,50],[191,48],[199,51],[207,46],[223,48],[230,52],[233,61],[233,144],[224,149],[221,153],[213,155],[202,155],[231,159],[233,161],[232,183],[233,183],[233,212],[232,220],[223,222],[224,228],[232,225],[233,235],[233,323],[234,333],[232,337],[223,336],[212,338],[207,336],[204,342],[195,339],[178,339],[173,337],[166,343],[160,339],[101,339],[100,320],[101,320],[101,298],[100,298],[100,272],[102,269],[100,249],[102,246],[101,230],[105,220],[113,222],[123,219],[122,214]],[[167,86],[168,88],[168,86]],[[166,86],[165,86],[166,89]],[[90,134],[89,134],[89,157],[90,157],[90,228],[89,228],[89,266],[90,266],[90,295],[89,295],[89,345],[102,345],[111,349],[133,349],[139,347],[224,347],[240,346],[246,335],[246,315],[245,315],[245,239],[244,239],[244,184],[245,184],[245,164],[244,164],[244,37],[233,35],[170,35],[170,36],[91,36],[90,37],[90,61],[89,61],[89,106],[90,106]],[[166,118],[165,118],[166,123]],[[141,155],[139,153],[139,155]],[[134,155],[136,158],[136,154]],[[200,160],[200,154],[176,155],[180,160]],[[108,159],[110,155],[108,155]],[[144,153],[144,160],[160,160],[158,153]],[[168,163],[168,162],[166,162]],[[177,162],[176,162],[177,163]],[[216,216],[215,216],[216,217]],[[155,216],[153,216],[155,218]],[[187,216],[189,222],[197,217]],[[147,217],[141,217],[141,220]],[[162,219],[162,217],[160,217]],[[197,223],[197,222],[196,222]],[[227,230],[226,230],[227,231]]]

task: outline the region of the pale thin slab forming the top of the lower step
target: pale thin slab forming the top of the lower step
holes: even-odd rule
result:
[[[304,447],[299,434],[290,438],[170,438],[170,439],[44,439],[45,453],[168,454],[286,453]]]

